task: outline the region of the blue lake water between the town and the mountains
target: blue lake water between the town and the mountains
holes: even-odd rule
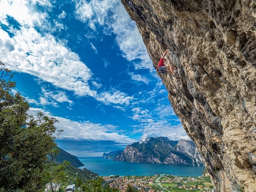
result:
[[[102,158],[78,158],[86,168],[95,172],[99,176],[109,175],[179,175],[179,176],[195,176],[202,175],[204,166],[192,165],[165,165],[165,164],[151,164],[151,163],[130,163],[130,162],[116,162],[110,159]]]

